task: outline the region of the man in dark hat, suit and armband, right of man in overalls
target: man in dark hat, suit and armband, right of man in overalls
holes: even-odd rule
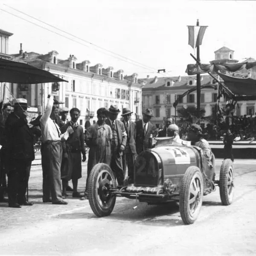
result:
[[[127,134],[125,131],[125,125],[123,122],[117,120],[119,109],[116,105],[111,105],[108,110],[108,119],[106,124],[112,129],[112,140],[111,140],[111,163],[110,167],[113,170],[118,185],[123,186],[124,172],[122,167],[122,154],[125,150]]]

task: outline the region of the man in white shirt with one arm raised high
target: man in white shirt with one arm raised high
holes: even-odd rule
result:
[[[42,132],[42,169],[43,169],[43,202],[52,204],[67,204],[61,195],[61,141],[67,140],[68,132],[61,134],[55,120],[59,110],[53,105],[53,96],[48,96],[46,109],[41,116]],[[70,130],[69,130],[70,131]],[[52,199],[50,199],[50,194]]]

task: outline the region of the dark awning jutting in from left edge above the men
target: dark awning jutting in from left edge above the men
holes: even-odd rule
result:
[[[62,81],[67,82],[46,70],[33,67],[24,62],[16,62],[0,58],[0,82],[14,84],[41,84]]]

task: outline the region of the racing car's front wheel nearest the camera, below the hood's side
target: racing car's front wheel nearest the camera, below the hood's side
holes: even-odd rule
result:
[[[193,224],[203,202],[204,182],[200,169],[189,166],[180,187],[180,216],[184,224]]]

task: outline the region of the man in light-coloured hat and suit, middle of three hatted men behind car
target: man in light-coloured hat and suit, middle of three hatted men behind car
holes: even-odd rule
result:
[[[124,176],[126,172],[126,167],[128,167],[128,176],[131,183],[134,180],[134,162],[137,156],[136,152],[136,124],[132,122],[131,119],[131,112],[129,108],[123,108],[122,117],[123,123],[125,125],[125,131],[127,133],[127,142],[125,146],[125,150],[123,151],[122,156],[122,164],[124,169]]]

